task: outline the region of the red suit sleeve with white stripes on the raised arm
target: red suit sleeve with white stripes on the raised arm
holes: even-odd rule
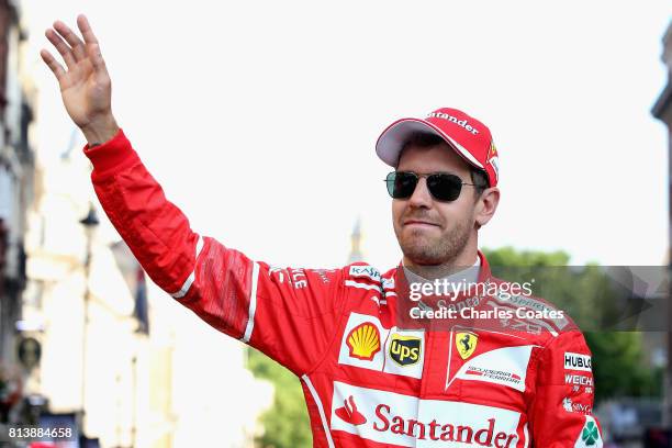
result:
[[[159,288],[294,373],[311,370],[336,333],[340,270],[273,268],[198,235],[123,131],[83,150],[100,203]]]

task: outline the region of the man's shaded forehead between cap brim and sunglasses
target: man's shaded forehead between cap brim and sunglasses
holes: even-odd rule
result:
[[[410,144],[404,148],[396,167],[400,171],[455,172],[466,175],[470,166],[448,144],[441,142],[432,146]]]

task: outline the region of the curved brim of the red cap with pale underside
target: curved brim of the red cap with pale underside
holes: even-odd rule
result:
[[[438,135],[462,156],[467,163],[477,168],[484,169],[483,165],[481,165],[462,145],[434,124],[419,119],[401,119],[389,125],[388,128],[380,134],[378,142],[376,142],[376,154],[378,154],[378,157],[380,157],[382,161],[396,168],[399,156],[401,155],[404,144],[408,141],[411,135],[417,132]]]

